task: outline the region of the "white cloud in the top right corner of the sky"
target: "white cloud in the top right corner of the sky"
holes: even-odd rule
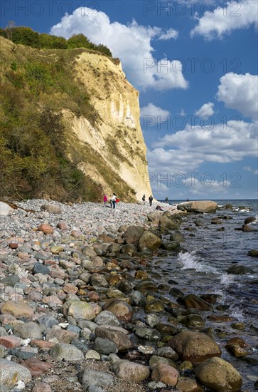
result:
[[[258,24],[257,0],[227,1],[227,6],[218,6],[213,14],[205,14],[198,19],[198,25],[190,32],[210,40],[222,38],[237,29],[247,29]]]

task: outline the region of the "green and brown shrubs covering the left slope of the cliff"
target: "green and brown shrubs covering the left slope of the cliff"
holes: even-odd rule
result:
[[[21,29],[26,28],[14,29],[17,36]],[[13,40],[24,38],[25,34],[14,38],[14,31]],[[57,45],[56,42],[61,45],[63,40],[46,34],[39,36],[40,47],[44,39],[45,46]],[[26,39],[28,45],[29,38]],[[101,185],[80,169],[80,159],[90,160],[97,171],[104,171],[102,158],[96,157],[87,145],[81,146],[82,153],[78,154],[63,117],[63,111],[68,110],[78,118],[87,118],[92,126],[99,120],[90,92],[75,73],[77,56],[82,51],[92,51],[83,45],[76,48],[87,38],[73,36],[66,41],[68,48],[63,49],[35,49],[14,45],[1,37],[0,40],[0,197],[50,197],[63,202],[101,200]],[[30,46],[36,46],[35,42],[32,40]],[[120,197],[134,195],[115,173],[109,171],[107,177]]]

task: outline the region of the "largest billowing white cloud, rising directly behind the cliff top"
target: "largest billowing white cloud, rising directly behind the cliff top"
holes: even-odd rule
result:
[[[136,88],[162,91],[188,87],[180,61],[156,60],[152,55],[151,40],[171,38],[175,35],[173,29],[164,33],[159,27],[141,26],[136,21],[127,26],[117,21],[111,23],[104,12],[80,7],[71,15],[63,16],[50,33],[65,38],[83,33],[93,43],[103,43],[113,56],[120,58],[127,78]]]

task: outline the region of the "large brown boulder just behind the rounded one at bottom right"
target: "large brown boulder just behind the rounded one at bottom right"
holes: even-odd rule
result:
[[[183,361],[203,362],[213,356],[220,356],[221,350],[215,341],[201,332],[183,331],[168,341]]]

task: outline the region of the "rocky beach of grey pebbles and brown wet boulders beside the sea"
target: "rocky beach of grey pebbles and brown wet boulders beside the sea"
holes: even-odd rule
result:
[[[1,392],[257,388],[252,374],[253,389],[242,388],[239,371],[239,361],[258,364],[257,325],[244,334],[213,282],[201,295],[186,292],[161,267],[188,252],[194,229],[189,208],[156,205],[1,202]],[[193,207],[212,227],[227,220],[213,202]],[[239,267],[228,274],[253,274]]]

